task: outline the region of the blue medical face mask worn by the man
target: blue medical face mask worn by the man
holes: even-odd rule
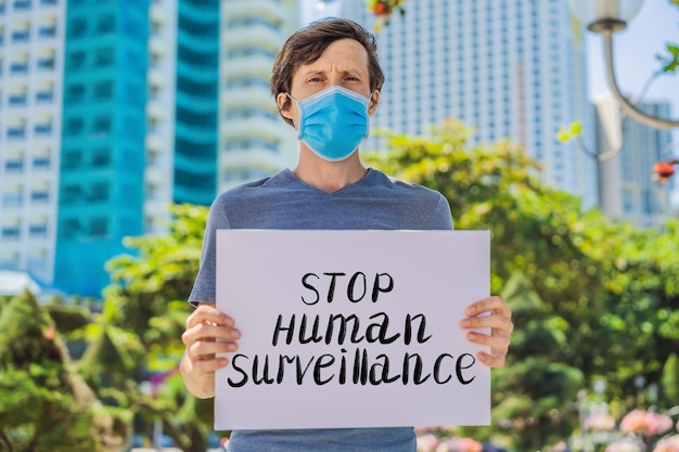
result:
[[[286,93],[287,94],[287,93]],[[297,101],[297,139],[329,162],[349,157],[368,137],[370,100],[340,86],[332,86]]]

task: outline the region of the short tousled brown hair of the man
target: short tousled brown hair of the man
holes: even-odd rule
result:
[[[299,66],[316,62],[331,43],[346,38],[355,39],[363,46],[368,52],[370,91],[381,90],[382,83],[384,83],[384,73],[377,61],[377,44],[374,35],[354,21],[325,18],[298,29],[287,38],[281,48],[271,72],[270,86],[273,96],[276,98],[281,92],[290,93],[293,75]],[[286,99],[282,109],[287,109],[290,102],[290,99]],[[283,119],[294,126],[292,119],[284,116]]]

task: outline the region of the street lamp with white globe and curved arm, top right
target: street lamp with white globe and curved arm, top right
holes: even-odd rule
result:
[[[643,0],[568,0],[573,15],[590,31],[603,35],[606,78],[613,95],[632,119],[655,129],[679,127],[679,120],[663,119],[643,113],[623,95],[613,67],[613,34],[624,29],[638,12]]]

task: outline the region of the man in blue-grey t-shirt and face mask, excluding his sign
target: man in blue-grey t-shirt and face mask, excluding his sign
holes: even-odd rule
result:
[[[215,396],[215,371],[229,364],[215,354],[235,351],[241,337],[235,320],[214,307],[217,229],[452,229],[440,193],[392,180],[360,162],[358,145],[368,134],[383,81],[374,37],[350,21],[311,24],[279,52],[271,90],[281,115],[297,130],[299,159],[294,170],[225,192],[210,207],[190,296],[198,307],[182,336],[181,372],[196,397]],[[466,314],[463,328],[491,331],[467,333],[469,340],[490,347],[477,359],[504,365],[513,328],[507,304],[489,297],[471,305]],[[229,451],[245,450],[413,452],[415,438],[412,428],[400,427],[233,431]]]

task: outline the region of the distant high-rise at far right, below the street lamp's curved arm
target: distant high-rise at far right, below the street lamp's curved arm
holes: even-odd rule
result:
[[[652,170],[670,154],[671,132],[624,116],[613,94],[597,98],[594,104],[598,153],[613,155],[600,163],[601,210],[640,228],[661,225],[669,217],[670,186],[654,181]],[[637,107],[652,116],[671,116],[668,102],[643,102]]]

